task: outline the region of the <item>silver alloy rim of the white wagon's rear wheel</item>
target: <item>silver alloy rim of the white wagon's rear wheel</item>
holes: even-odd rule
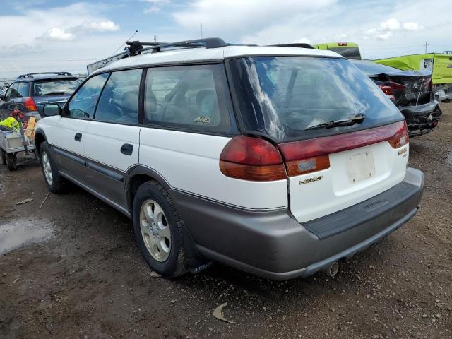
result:
[[[171,230],[162,207],[153,200],[141,205],[140,229],[146,249],[156,261],[165,261],[171,251]]]

